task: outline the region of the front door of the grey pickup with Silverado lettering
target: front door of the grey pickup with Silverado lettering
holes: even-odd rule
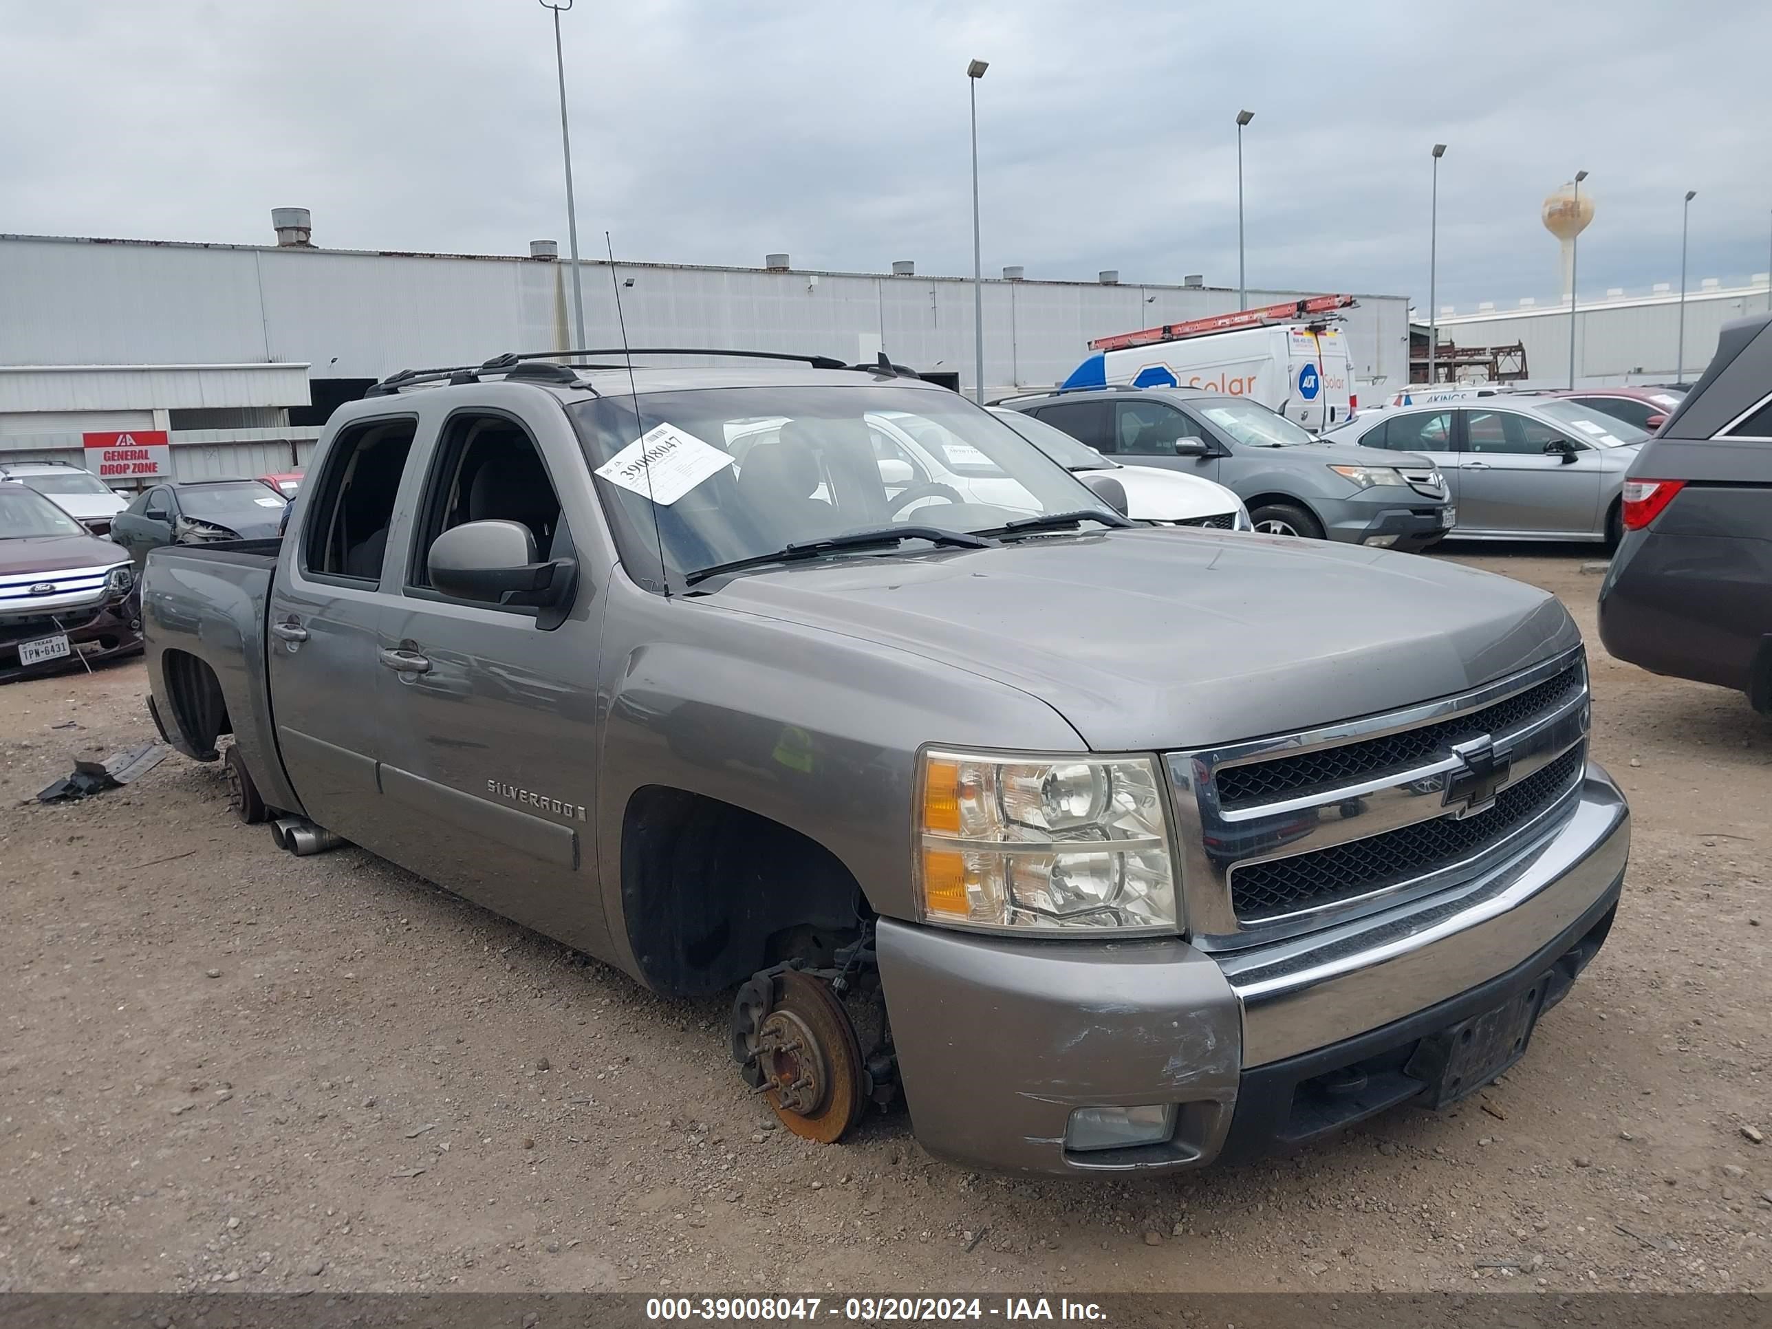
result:
[[[533,608],[445,595],[427,555],[445,530],[517,521],[537,562],[576,558],[595,498],[565,413],[530,390],[441,420],[400,528],[377,659],[390,858],[583,950],[604,948],[595,890],[595,677],[601,602]]]

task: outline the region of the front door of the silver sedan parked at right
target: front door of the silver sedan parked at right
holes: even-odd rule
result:
[[[1598,533],[1598,450],[1520,411],[1462,408],[1458,415],[1460,528],[1526,539]],[[1565,447],[1574,461],[1565,461]]]

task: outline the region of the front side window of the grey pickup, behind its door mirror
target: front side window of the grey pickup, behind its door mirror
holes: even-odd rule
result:
[[[516,521],[535,537],[535,558],[560,556],[560,498],[535,441],[503,415],[454,415],[431,461],[418,509],[406,583],[431,587],[429,553],[438,535],[468,521]]]

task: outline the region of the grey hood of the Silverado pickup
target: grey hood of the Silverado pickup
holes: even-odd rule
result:
[[[1490,572],[1185,528],[801,563],[709,599],[1001,679],[1097,751],[1393,711],[1581,641],[1552,595]]]

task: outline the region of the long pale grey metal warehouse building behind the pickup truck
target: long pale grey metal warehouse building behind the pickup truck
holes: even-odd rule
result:
[[[294,213],[296,216],[289,216]],[[163,429],[179,477],[299,466],[331,409],[399,369],[567,347],[571,266],[530,257],[324,250],[299,209],[276,245],[0,236],[0,459],[78,462],[92,431]],[[679,264],[581,266],[587,337],[895,361],[973,386],[973,284],[893,273]],[[1269,305],[1320,291],[1251,291]],[[983,284],[985,392],[1049,386],[1093,337],[1237,308],[1187,278]],[[1343,331],[1356,392],[1409,377],[1409,301],[1359,296]]]

